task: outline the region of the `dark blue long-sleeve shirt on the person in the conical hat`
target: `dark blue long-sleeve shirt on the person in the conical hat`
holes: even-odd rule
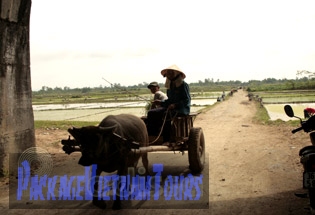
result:
[[[179,87],[166,91],[168,99],[161,102],[161,106],[167,108],[170,104],[175,104],[175,111],[179,114],[188,115],[190,113],[191,97],[189,86],[186,82]]]

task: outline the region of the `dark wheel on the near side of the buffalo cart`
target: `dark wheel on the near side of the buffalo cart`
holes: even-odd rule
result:
[[[189,169],[200,173],[205,163],[205,138],[202,128],[191,128],[188,138]]]

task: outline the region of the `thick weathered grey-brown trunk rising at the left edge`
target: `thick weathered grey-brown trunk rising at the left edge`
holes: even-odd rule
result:
[[[35,145],[29,45],[31,4],[31,0],[0,0],[0,176],[8,173],[9,155],[10,163],[15,163],[18,155],[14,153]]]

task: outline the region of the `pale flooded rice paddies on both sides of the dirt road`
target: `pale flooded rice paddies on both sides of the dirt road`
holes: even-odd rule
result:
[[[191,101],[191,112],[197,112],[207,105],[213,105],[216,99],[193,99]],[[48,104],[33,105],[35,120],[68,120],[68,121],[100,121],[107,115],[121,113],[136,116],[146,115],[146,102],[104,102],[104,103],[81,103],[81,104]],[[288,103],[290,104],[290,103]],[[270,120],[281,119],[283,121],[295,118],[288,117],[284,112],[286,104],[265,104]],[[290,104],[295,115],[303,118],[303,110],[306,107],[315,108],[315,103]]]

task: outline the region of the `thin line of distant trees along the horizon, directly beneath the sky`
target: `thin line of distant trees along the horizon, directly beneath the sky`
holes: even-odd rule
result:
[[[299,70],[296,74],[296,79],[275,79],[267,78],[264,80],[250,80],[248,82],[241,81],[220,81],[213,78],[206,78],[203,81],[199,80],[196,83],[189,83],[191,91],[229,91],[235,88],[243,87],[248,91],[274,91],[274,90],[306,90],[315,89],[315,75],[313,72],[306,70]],[[163,89],[164,83],[159,83]],[[128,92],[133,91],[137,93],[148,92],[148,83],[142,82],[132,86],[122,86],[119,83],[113,83],[110,86],[98,86],[98,87],[83,87],[73,88],[70,87],[55,87],[42,86],[38,91],[33,91],[33,94],[88,94],[93,92],[106,93],[106,92]]]

